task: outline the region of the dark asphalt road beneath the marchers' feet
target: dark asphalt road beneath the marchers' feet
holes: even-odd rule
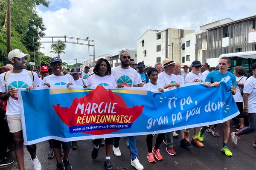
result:
[[[217,129],[221,132],[222,125]],[[231,126],[231,132],[235,129]],[[193,130],[190,130],[192,136]],[[154,140],[156,137],[154,137]],[[211,133],[207,133],[204,139],[204,148],[191,146],[189,149],[179,146],[180,138],[174,139],[174,147],[177,156],[169,156],[165,151],[165,145],[162,143],[160,146],[160,153],[163,156],[162,161],[157,161],[152,164],[147,160],[147,146],[146,136],[137,136],[137,148],[139,152],[139,160],[143,164],[145,170],[256,170],[256,148],[253,147],[255,140],[255,133],[241,136],[241,140],[237,146],[234,146],[229,140],[229,148],[233,153],[232,157],[225,156],[221,152],[222,147],[222,132],[220,137],[214,137]],[[115,170],[135,170],[131,166],[130,150],[125,144],[126,139],[120,139],[119,148],[122,152],[121,157],[111,155],[111,161]],[[153,142],[154,144],[154,142]],[[78,142],[79,148],[71,150],[70,163],[73,170],[105,170],[105,147],[99,150],[99,156],[96,160],[90,157],[93,143],[91,140],[84,140]],[[55,158],[47,159],[48,142],[41,142],[37,144],[37,156],[40,160],[44,170],[55,169]],[[24,147],[25,148],[25,147]],[[31,158],[26,149],[24,149],[25,169],[33,170]],[[15,158],[13,147],[7,157]],[[0,170],[17,170],[17,161],[15,163],[1,167]]]

